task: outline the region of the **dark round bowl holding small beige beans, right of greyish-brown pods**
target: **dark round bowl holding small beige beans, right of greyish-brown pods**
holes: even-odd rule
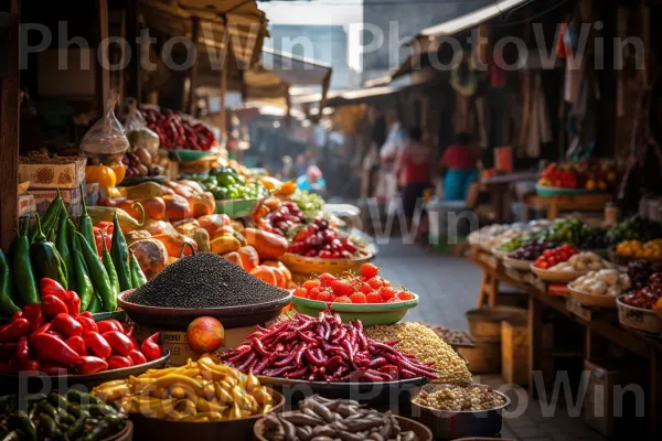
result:
[[[436,390],[447,385],[429,385],[425,389]],[[483,385],[472,385],[489,387]],[[501,433],[503,424],[503,410],[506,409],[511,400],[508,396],[494,390],[505,399],[501,407],[472,411],[472,410],[437,410],[425,406],[419,406],[412,401],[410,417],[421,424],[425,424],[433,431],[435,439],[455,440],[458,438],[470,437],[494,437]]]

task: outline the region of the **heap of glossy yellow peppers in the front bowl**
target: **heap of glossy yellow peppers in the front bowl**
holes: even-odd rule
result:
[[[274,408],[269,390],[209,354],[184,366],[148,370],[97,386],[95,396],[148,418],[207,422],[237,420]]]

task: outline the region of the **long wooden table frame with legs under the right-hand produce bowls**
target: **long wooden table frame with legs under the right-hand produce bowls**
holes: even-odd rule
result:
[[[534,373],[542,370],[543,365],[543,310],[552,309],[568,320],[579,323],[585,329],[584,335],[584,358],[594,358],[594,348],[598,338],[608,341],[623,349],[642,358],[643,363],[649,365],[649,390],[648,402],[645,406],[649,421],[649,439],[658,440],[661,437],[660,422],[662,421],[662,342],[643,338],[639,334],[620,326],[618,323],[605,320],[597,313],[588,315],[570,311],[566,304],[566,299],[551,295],[547,293],[544,283],[532,273],[525,277],[516,277],[512,269],[506,268],[501,261],[494,265],[491,255],[482,250],[473,250],[471,260],[478,265],[484,275],[490,278],[516,287],[528,294],[528,394],[535,397]],[[523,273],[522,273],[523,275]],[[530,281],[535,284],[530,283]],[[584,315],[584,316],[583,316]]]

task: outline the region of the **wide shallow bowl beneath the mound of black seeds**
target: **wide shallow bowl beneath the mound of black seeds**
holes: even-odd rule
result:
[[[203,315],[218,319],[218,321],[228,329],[264,324],[280,315],[282,308],[285,308],[292,298],[291,293],[284,291],[287,292],[287,295],[285,295],[282,299],[274,300],[268,303],[227,308],[186,309],[146,306],[142,304],[131,303],[125,300],[125,298],[131,292],[131,290],[121,292],[117,299],[117,302],[119,308],[125,310],[132,321],[140,324],[151,324],[154,326],[175,326],[179,329],[185,329],[193,319]],[[194,293],[192,293],[192,295],[194,295]]]

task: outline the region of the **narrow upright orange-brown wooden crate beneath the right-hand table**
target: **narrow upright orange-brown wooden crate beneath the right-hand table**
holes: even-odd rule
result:
[[[501,322],[501,374],[509,385],[528,384],[528,327],[525,321]]]

